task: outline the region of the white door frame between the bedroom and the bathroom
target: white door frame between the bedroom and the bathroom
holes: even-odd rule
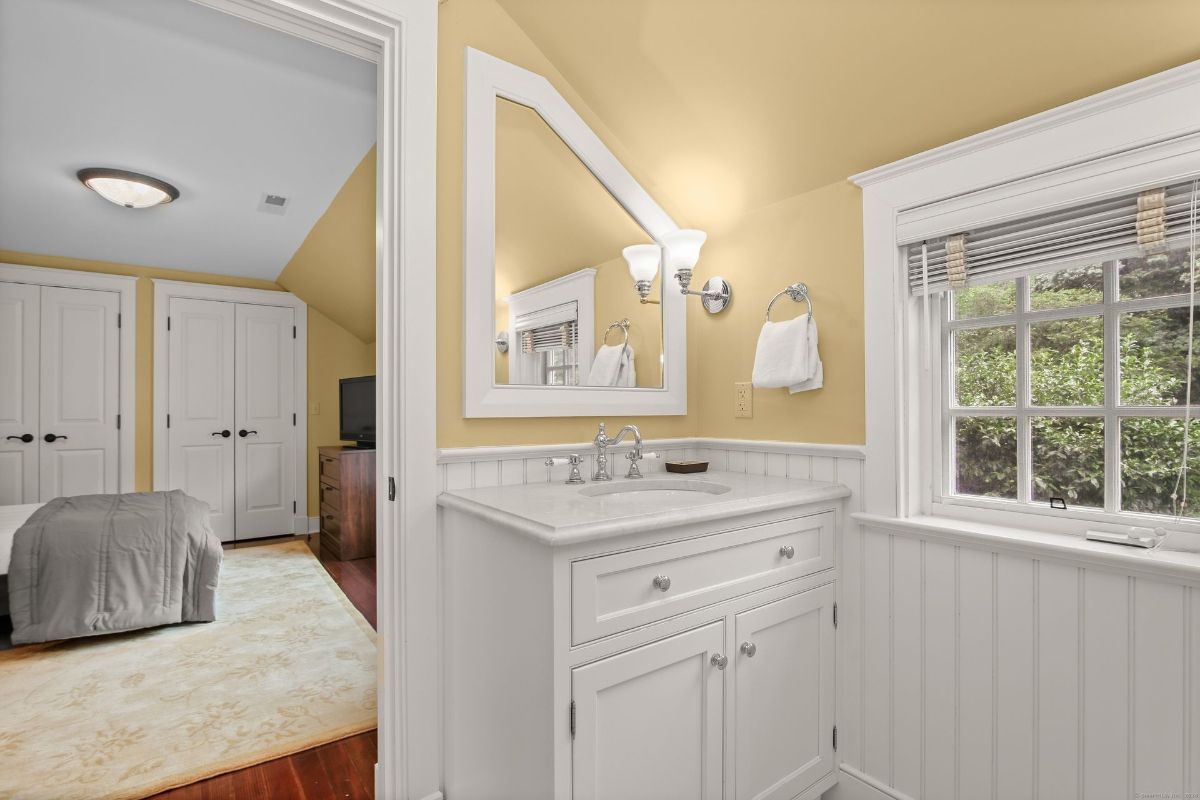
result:
[[[379,765],[376,796],[442,798],[437,536],[438,0],[196,0],[379,67],[376,464]],[[395,480],[395,501],[388,483]]]

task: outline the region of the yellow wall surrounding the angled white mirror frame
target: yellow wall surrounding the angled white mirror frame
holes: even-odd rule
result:
[[[467,420],[462,416],[462,122],[464,48],[474,47],[545,76],[635,175],[637,164],[494,0],[450,0],[438,16],[438,446],[583,441],[594,417]],[[654,187],[648,186],[654,194]],[[661,200],[660,200],[661,201]],[[667,212],[671,209],[664,204]],[[689,350],[695,398],[696,350]],[[623,419],[655,438],[694,435],[689,416]]]

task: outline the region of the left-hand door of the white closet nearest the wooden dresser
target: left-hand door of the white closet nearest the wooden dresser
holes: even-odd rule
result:
[[[172,297],[167,481],[204,500],[221,541],[234,539],[234,305]]]

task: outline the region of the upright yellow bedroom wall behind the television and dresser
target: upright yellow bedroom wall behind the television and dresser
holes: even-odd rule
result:
[[[337,438],[337,381],[373,375],[374,343],[365,343],[308,306],[308,516],[320,511],[317,449],[342,444]]]

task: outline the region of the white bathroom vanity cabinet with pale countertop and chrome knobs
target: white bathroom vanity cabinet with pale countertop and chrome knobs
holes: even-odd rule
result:
[[[443,495],[449,800],[808,800],[833,786],[846,491],[756,480],[704,513],[611,506],[623,516],[571,524],[515,511],[574,487],[506,487],[527,506]]]

